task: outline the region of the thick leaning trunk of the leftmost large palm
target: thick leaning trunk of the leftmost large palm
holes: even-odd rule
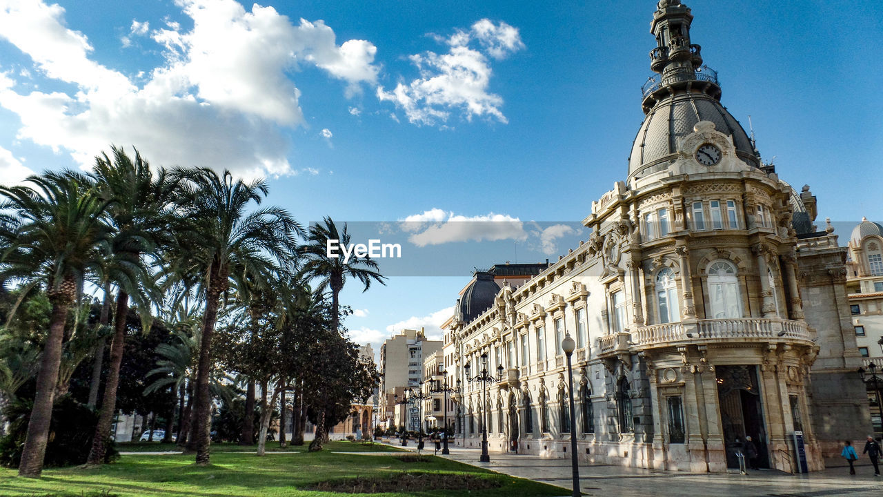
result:
[[[63,283],[64,285],[64,283]],[[37,392],[34,396],[34,409],[27,422],[25,447],[22,448],[19,477],[39,477],[43,470],[43,457],[49,442],[49,423],[52,420],[52,401],[58,383],[58,370],[61,368],[61,348],[64,339],[64,321],[73,299],[57,296],[52,299],[52,317],[49,321],[49,336],[40,360],[37,374]]]

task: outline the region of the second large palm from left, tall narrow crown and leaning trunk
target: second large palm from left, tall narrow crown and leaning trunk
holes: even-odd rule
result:
[[[108,377],[104,383],[102,407],[95,426],[95,436],[87,464],[102,464],[117,407],[119,369],[123,363],[125,323],[129,314],[129,300],[140,303],[139,315],[145,332],[150,329],[150,300],[147,290],[153,287],[145,254],[162,245],[160,240],[170,226],[171,211],[177,192],[177,180],[160,168],[156,174],[150,164],[135,150],[129,157],[122,148],[111,147],[113,160],[107,154],[95,157],[90,176],[103,198],[114,199],[109,218],[115,228],[112,251],[105,264],[105,275],[117,286],[117,305],[114,312],[114,334],[110,340]]]

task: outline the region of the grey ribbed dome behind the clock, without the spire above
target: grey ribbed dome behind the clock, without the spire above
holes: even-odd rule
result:
[[[684,92],[660,100],[647,112],[631,148],[629,178],[667,168],[675,158],[678,139],[693,133],[699,121],[711,121],[717,131],[731,135],[736,155],[760,166],[748,134],[720,102],[703,93]]]

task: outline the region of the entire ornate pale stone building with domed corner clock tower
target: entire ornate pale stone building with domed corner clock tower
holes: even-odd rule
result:
[[[583,461],[723,471],[751,435],[762,467],[794,471],[797,431],[819,470],[870,429],[846,250],[812,226],[808,187],[779,180],[721,105],[692,19],[677,0],[653,14],[659,76],[643,88],[628,177],[584,219],[589,240],[539,274],[478,272],[464,289],[443,348],[449,384],[463,384],[458,446],[480,447],[487,413],[492,452],[568,457],[576,416]],[[482,354],[504,371],[487,402],[464,381]]]

